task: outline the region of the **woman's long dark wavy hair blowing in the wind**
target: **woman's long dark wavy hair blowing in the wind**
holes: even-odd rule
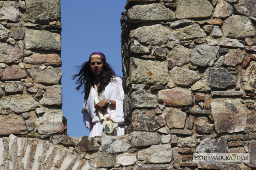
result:
[[[116,82],[116,79],[113,79],[117,77],[114,72],[111,71],[111,66],[105,62],[104,60],[101,60],[103,63],[102,68],[102,74],[100,77],[100,86],[98,88],[99,94],[103,92],[105,87],[110,83],[110,81]],[[73,80],[76,79],[76,82],[74,84],[78,85],[76,87],[77,91],[83,90],[84,92],[84,99],[87,100],[90,94],[91,87],[93,86],[93,82],[95,80],[95,76],[91,71],[90,68],[91,60],[84,62],[81,66],[77,67],[77,70],[79,70],[78,74],[75,74],[72,78]]]

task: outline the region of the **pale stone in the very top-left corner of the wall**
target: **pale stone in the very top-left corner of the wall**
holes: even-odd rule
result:
[[[0,20],[16,22],[21,13],[14,1],[0,1]]]

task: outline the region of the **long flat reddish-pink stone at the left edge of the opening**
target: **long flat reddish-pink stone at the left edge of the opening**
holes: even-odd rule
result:
[[[33,54],[29,57],[25,57],[23,60],[23,63],[60,67],[61,59],[60,59],[60,56],[57,54],[46,54],[46,55]]]

